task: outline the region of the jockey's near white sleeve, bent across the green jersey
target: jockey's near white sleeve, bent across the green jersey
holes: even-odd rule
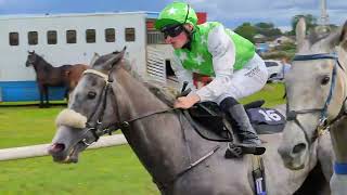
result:
[[[216,77],[195,92],[201,101],[214,101],[223,93],[224,88],[231,82],[235,63],[235,46],[222,25],[209,32],[207,46],[213,55]]]

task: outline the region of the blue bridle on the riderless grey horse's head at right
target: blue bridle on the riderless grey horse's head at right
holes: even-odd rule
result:
[[[333,67],[333,72],[332,72],[332,81],[331,81],[331,86],[330,86],[330,91],[327,94],[327,98],[325,100],[325,103],[323,105],[323,107],[321,108],[310,108],[310,109],[300,109],[300,110],[294,110],[290,108],[290,103],[286,103],[286,121],[294,121],[299,128],[300,130],[304,132],[305,134],[305,139],[307,141],[308,144],[312,144],[320,135],[322,135],[326,130],[329,130],[330,126],[335,122],[336,120],[338,120],[343,115],[345,115],[345,110],[344,110],[344,104],[340,107],[339,114],[332,120],[327,120],[327,106],[331,103],[332,96],[333,96],[333,92],[336,86],[336,77],[337,77],[337,66],[345,72],[344,67],[340,65],[339,61],[338,61],[338,56],[335,53],[319,53],[319,54],[309,54],[309,55],[295,55],[293,58],[294,61],[314,61],[314,60],[333,60],[334,63],[334,67]],[[346,101],[346,99],[344,100],[344,102]],[[301,125],[301,122],[297,119],[297,115],[305,115],[305,114],[312,114],[312,113],[320,113],[320,118],[319,118],[319,123],[316,128],[316,134],[309,139],[308,135],[308,131],[305,129],[305,127]]]

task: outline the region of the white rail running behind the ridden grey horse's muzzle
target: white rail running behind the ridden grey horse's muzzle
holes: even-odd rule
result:
[[[127,144],[127,140],[123,134],[115,134],[111,136],[100,138],[98,142],[93,143],[87,150],[110,147],[110,146],[121,145],[121,144]],[[3,148],[3,150],[0,150],[0,160],[11,160],[11,159],[46,156],[48,155],[49,146],[50,144],[40,144],[40,145],[31,145],[31,146],[23,146],[23,147]]]

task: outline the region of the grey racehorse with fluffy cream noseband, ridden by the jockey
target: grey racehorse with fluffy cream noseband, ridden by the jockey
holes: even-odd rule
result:
[[[68,108],[56,118],[49,147],[53,160],[77,162],[100,135],[120,128],[162,194],[253,195],[253,155],[226,159],[227,143],[203,139],[180,110],[164,103],[130,70],[124,53],[125,49],[107,54],[108,60],[101,56],[83,73]],[[305,169],[293,171],[279,162],[281,133],[261,139],[267,147],[262,158],[268,194],[294,194],[316,166],[316,154]]]

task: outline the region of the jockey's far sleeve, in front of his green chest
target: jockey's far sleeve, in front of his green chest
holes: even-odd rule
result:
[[[190,88],[192,91],[195,91],[196,88],[193,83],[193,73],[183,68],[182,63],[177,55],[174,55],[172,60],[171,68],[180,82],[180,89],[182,89],[183,82],[188,81],[187,89]]]

